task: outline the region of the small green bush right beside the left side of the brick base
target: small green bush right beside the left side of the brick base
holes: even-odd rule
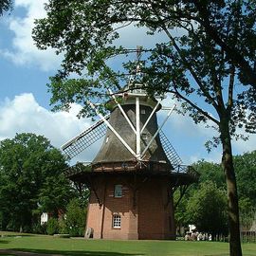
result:
[[[78,199],[73,199],[66,207],[65,225],[70,236],[83,236],[86,214]]]

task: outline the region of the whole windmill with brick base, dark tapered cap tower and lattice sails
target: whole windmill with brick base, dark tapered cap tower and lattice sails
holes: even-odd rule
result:
[[[110,115],[64,144],[70,157],[104,135],[101,149],[88,165],[77,163],[67,176],[90,189],[86,236],[96,239],[174,239],[173,193],[181,196],[196,181],[157,124],[160,101],[131,81],[112,93]]]

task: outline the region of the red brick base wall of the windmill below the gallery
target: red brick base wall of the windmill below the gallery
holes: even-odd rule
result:
[[[135,183],[134,176],[111,175],[98,178],[94,184],[87,215],[87,227],[94,229],[94,238],[169,239],[174,235],[174,224],[170,229],[174,213],[170,204],[165,208],[170,188],[165,178],[137,178]],[[117,184],[123,186],[120,198],[114,197]],[[121,216],[120,229],[112,228],[113,213]]]

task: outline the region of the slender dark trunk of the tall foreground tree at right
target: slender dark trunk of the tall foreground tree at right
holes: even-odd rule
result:
[[[222,166],[226,176],[229,202],[229,255],[241,256],[239,208],[236,187],[236,177],[233,166],[229,122],[225,119],[220,124],[221,142],[223,146]]]

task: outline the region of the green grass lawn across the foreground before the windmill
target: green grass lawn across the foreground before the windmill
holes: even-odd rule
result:
[[[9,235],[1,237],[2,234]],[[106,241],[54,238],[45,235],[20,235],[0,232],[0,250],[14,249],[71,256],[225,256],[229,244],[189,241]],[[256,244],[243,244],[244,256],[256,255]],[[1,254],[0,255],[11,255]],[[12,254],[13,255],[13,254]]]

